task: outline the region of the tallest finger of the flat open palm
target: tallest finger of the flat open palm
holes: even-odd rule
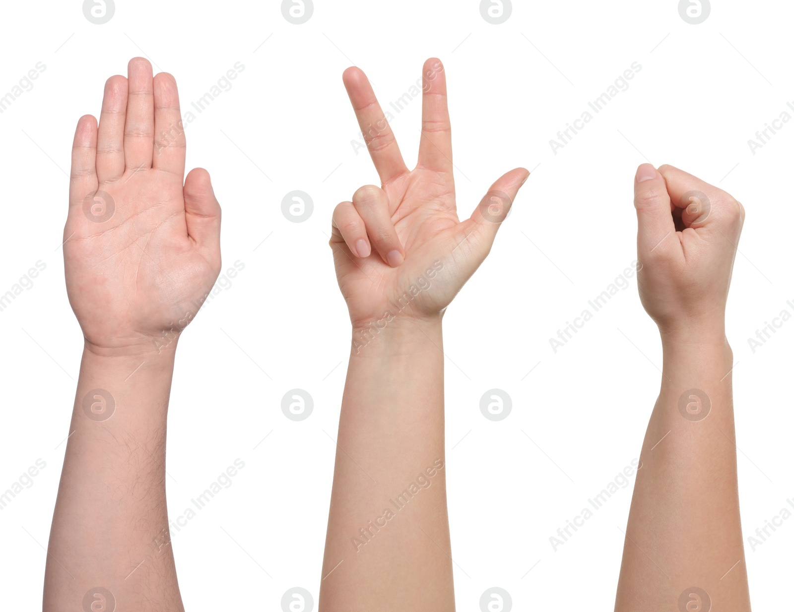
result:
[[[135,57],[129,60],[127,76],[124,159],[127,168],[137,171],[152,167],[152,147],[154,145],[152,64],[142,57]]]

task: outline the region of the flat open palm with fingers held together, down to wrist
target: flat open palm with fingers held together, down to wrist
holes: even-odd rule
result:
[[[102,115],[80,117],[64,229],[67,294],[87,348],[159,350],[198,312],[221,269],[210,175],[185,171],[172,75],[130,60],[105,84]]]

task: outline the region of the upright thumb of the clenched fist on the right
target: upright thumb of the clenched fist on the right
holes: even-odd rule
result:
[[[665,252],[676,244],[670,240],[676,224],[670,209],[665,178],[651,164],[641,164],[634,178],[634,208],[637,209],[637,254]]]

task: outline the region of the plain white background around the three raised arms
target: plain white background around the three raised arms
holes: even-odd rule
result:
[[[224,268],[245,264],[183,334],[176,364],[171,517],[245,461],[231,487],[172,531],[188,610],[278,610],[295,586],[316,607],[349,353],[330,214],[377,182],[351,144],[360,137],[341,72],[362,67],[385,108],[430,56],[445,62],[461,216],[504,171],[534,170],[445,317],[457,606],[479,609],[494,586],[515,610],[614,605],[634,479],[557,552],[549,537],[638,457],[661,346],[634,279],[556,354],[549,337],[634,260],[632,180],[648,160],[718,185],[747,210],[728,333],[751,594],[757,610],[773,609],[792,572],[794,521],[755,551],[747,536],[794,496],[794,322],[755,353],[747,338],[784,308],[794,313],[794,124],[755,155],[747,140],[794,100],[794,16],[788,2],[714,4],[689,25],[675,0],[515,2],[507,22],[491,25],[472,0],[316,0],[310,21],[292,25],[280,2],[118,0],[114,17],[94,25],[81,2],[5,3],[0,95],[37,62],[46,70],[0,114],[0,293],[37,260],[47,266],[0,312],[0,490],[37,459],[47,464],[0,511],[6,607],[40,605],[82,349],[59,248],[72,134],[80,115],[98,115],[105,80],[145,55],[175,75],[183,112],[236,62],[245,66],[187,125],[187,165],[210,171],[222,203]],[[549,140],[633,62],[642,71],[630,87],[555,155]],[[409,164],[420,113],[417,98],[392,122]],[[293,190],[314,201],[306,222],[281,213]],[[314,398],[306,421],[280,410],[295,387]],[[513,401],[499,422],[479,409],[494,387]]]

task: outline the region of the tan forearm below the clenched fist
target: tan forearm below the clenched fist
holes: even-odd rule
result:
[[[696,600],[689,591],[703,597],[702,589],[720,610],[746,612],[733,355],[719,333],[663,337],[663,349],[661,392],[642,445],[615,610],[677,609],[688,591],[687,610],[685,602]]]

